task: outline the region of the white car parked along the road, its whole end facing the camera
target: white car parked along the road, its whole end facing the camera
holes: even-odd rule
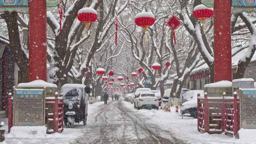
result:
[[[155,97],[153,92],[141,92],[136,96],[134,106],[137,109],[154,108],[159,109],[159,99]]]

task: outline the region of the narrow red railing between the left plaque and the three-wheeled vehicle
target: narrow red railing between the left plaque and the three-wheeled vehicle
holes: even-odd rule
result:
[[[46,125],[47,134],[61,133],[64,126],[64,107],[63,97],[55,93],[55,97],[46,97]],[[49,110],[53,109],[52,113]]]

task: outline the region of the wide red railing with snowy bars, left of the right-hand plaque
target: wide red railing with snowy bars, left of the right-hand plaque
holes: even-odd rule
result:
[[[225,132],[229,135],[238,135],[239,130],[239,103],[237,93],[227,97],[204,97],[197,99],[197,126],[198,131],[210,134]]]

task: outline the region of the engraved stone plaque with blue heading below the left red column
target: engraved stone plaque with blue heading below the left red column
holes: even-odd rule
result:
[[[45,94],[43,89],[15,89],[14,126],[44,126]]]

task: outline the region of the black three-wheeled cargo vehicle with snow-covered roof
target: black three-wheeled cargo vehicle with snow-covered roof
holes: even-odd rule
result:
[[[64,124],[73,127],[74,123],[83,122],[86,125],[88,116],[89,87],[83,84],[64,84],[61,87],[64,98]]]

